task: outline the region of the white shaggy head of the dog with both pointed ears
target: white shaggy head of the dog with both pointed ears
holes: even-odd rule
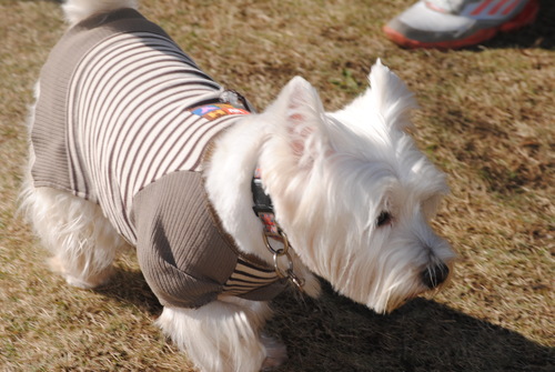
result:
[[[326,113],[293,79],[263,113],[274,125],[261,150],[276,219],[303,263],[377,312],[442,284],[454,253],[430,227],[445,175],[406,133],[414,99],[380,61],[371,88]]]

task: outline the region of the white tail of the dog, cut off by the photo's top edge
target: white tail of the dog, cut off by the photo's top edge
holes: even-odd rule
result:
[[[65,20],[73,26],[97,13],[121,8],[137,9],[137,0],[67,0],[62,8]]]

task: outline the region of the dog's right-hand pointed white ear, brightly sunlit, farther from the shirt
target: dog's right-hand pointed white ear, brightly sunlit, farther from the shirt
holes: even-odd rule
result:
[[[372,67],[369,81],[367,98],[385,123],[401,131],[412,125],[410,113],[417,108],[413,93],[380,59]]]

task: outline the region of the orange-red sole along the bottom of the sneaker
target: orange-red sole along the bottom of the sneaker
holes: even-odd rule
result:
[[[460,49],[490,40],[498,32],[509,32],[519,29],[526,24],[529,24],[535,21],[538,10],[539,10],[539,4],[537,3],[537,1],[531,1],[512,20],[502,23],[497,27],[478,30],[466,38],[458,40],[424,42],[424,41],[407,39],[402,33],[393,30],[387,26],[384,26],[383,31],[391,41],[407,49]]]

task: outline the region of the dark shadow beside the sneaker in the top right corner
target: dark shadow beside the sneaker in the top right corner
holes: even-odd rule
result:
[[[500,32],[495,38],[482,43],[486,49],[539,48],[555,49],[555,1],[539,0],[539,12],[534,23],[519,30]],[[472,49],[481,50],[480,47]]]

